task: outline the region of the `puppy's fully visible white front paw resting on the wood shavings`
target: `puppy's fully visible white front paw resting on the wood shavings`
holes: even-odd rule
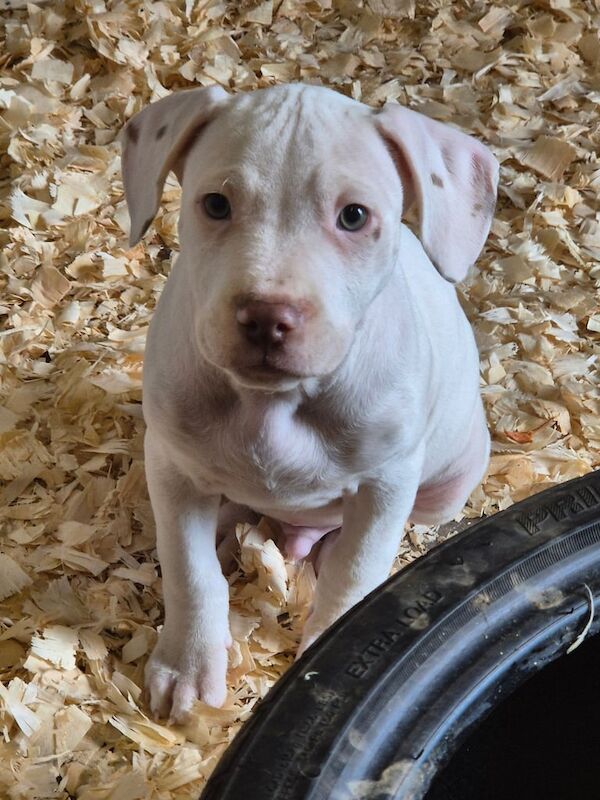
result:
[[[219,708],[227,697],[227,634],[221,642],[190,641],[164,629],[145,670],[146,694],[155,719],[184,723],[196,700]]]

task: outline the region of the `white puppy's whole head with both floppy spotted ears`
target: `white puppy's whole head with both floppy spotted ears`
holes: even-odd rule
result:
[[[473,224],[469,214],[489,211],[482,196],[495,185],[485,157],[467,156],[472,174],[460,173],[460,154],[487,150],[442,125],[450,144],[436,144],[437,123],[429,120],[433,130],[411,138],[410,120],[398,110],[415,125],[425,119],[400,107],[376,113],[331,90],[295,84],[235,97],[178,93],[128,124],[123,172],[132,240],[150,224],[174,169],[183,187],[176,269],[186,272],[196,340],[235,382],[283,390],[336,369],[396,268],[400,220],[411,201],[421,210],[425,249],[446,277],[461,277],[477,257],[477,237],[449,261],[438,239],[468,238],[447,230],[453,193],[468,194],[455,214],[463,227]],[[438,150],[452,157],[435,160]],[[421,180],[423,166],[441,187]],[[431,199],[433,190],[445,202],[435,192]]]

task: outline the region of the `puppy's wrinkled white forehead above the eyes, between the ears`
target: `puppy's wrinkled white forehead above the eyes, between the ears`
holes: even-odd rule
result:
[[[315,87],[238,95],[189,154],[194,180],[241,181],[285,189],[290,180],[322,188],[340,176],[361,182],[395,174],[368,106]],[[186,165],[186,177],[188,167]],[[218,191],[218,188],[211,191]]]

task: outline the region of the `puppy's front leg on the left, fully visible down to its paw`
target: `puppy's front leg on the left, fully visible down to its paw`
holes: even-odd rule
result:
[[[200,698],[226,697],[229,587],[216,553],[219,495],[203,495],[146,434],[146,477],[156,522],[165,623],[146,664],[155,716],[183,722]]]

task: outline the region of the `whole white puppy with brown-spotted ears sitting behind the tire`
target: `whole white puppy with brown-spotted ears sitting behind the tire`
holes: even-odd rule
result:
[[[304,650],[387,577],[407,519],[451,519],[481,480],[478,356],[449,281],[486,239],[498,165],[402,106],[299,84],[173,94],[123,143],[132,244],[169,170],[183,187],[144,368],[166,614],[146,682],[179,721],[225,699],[219,525],[266,515],[296,558],[341,528]]]

